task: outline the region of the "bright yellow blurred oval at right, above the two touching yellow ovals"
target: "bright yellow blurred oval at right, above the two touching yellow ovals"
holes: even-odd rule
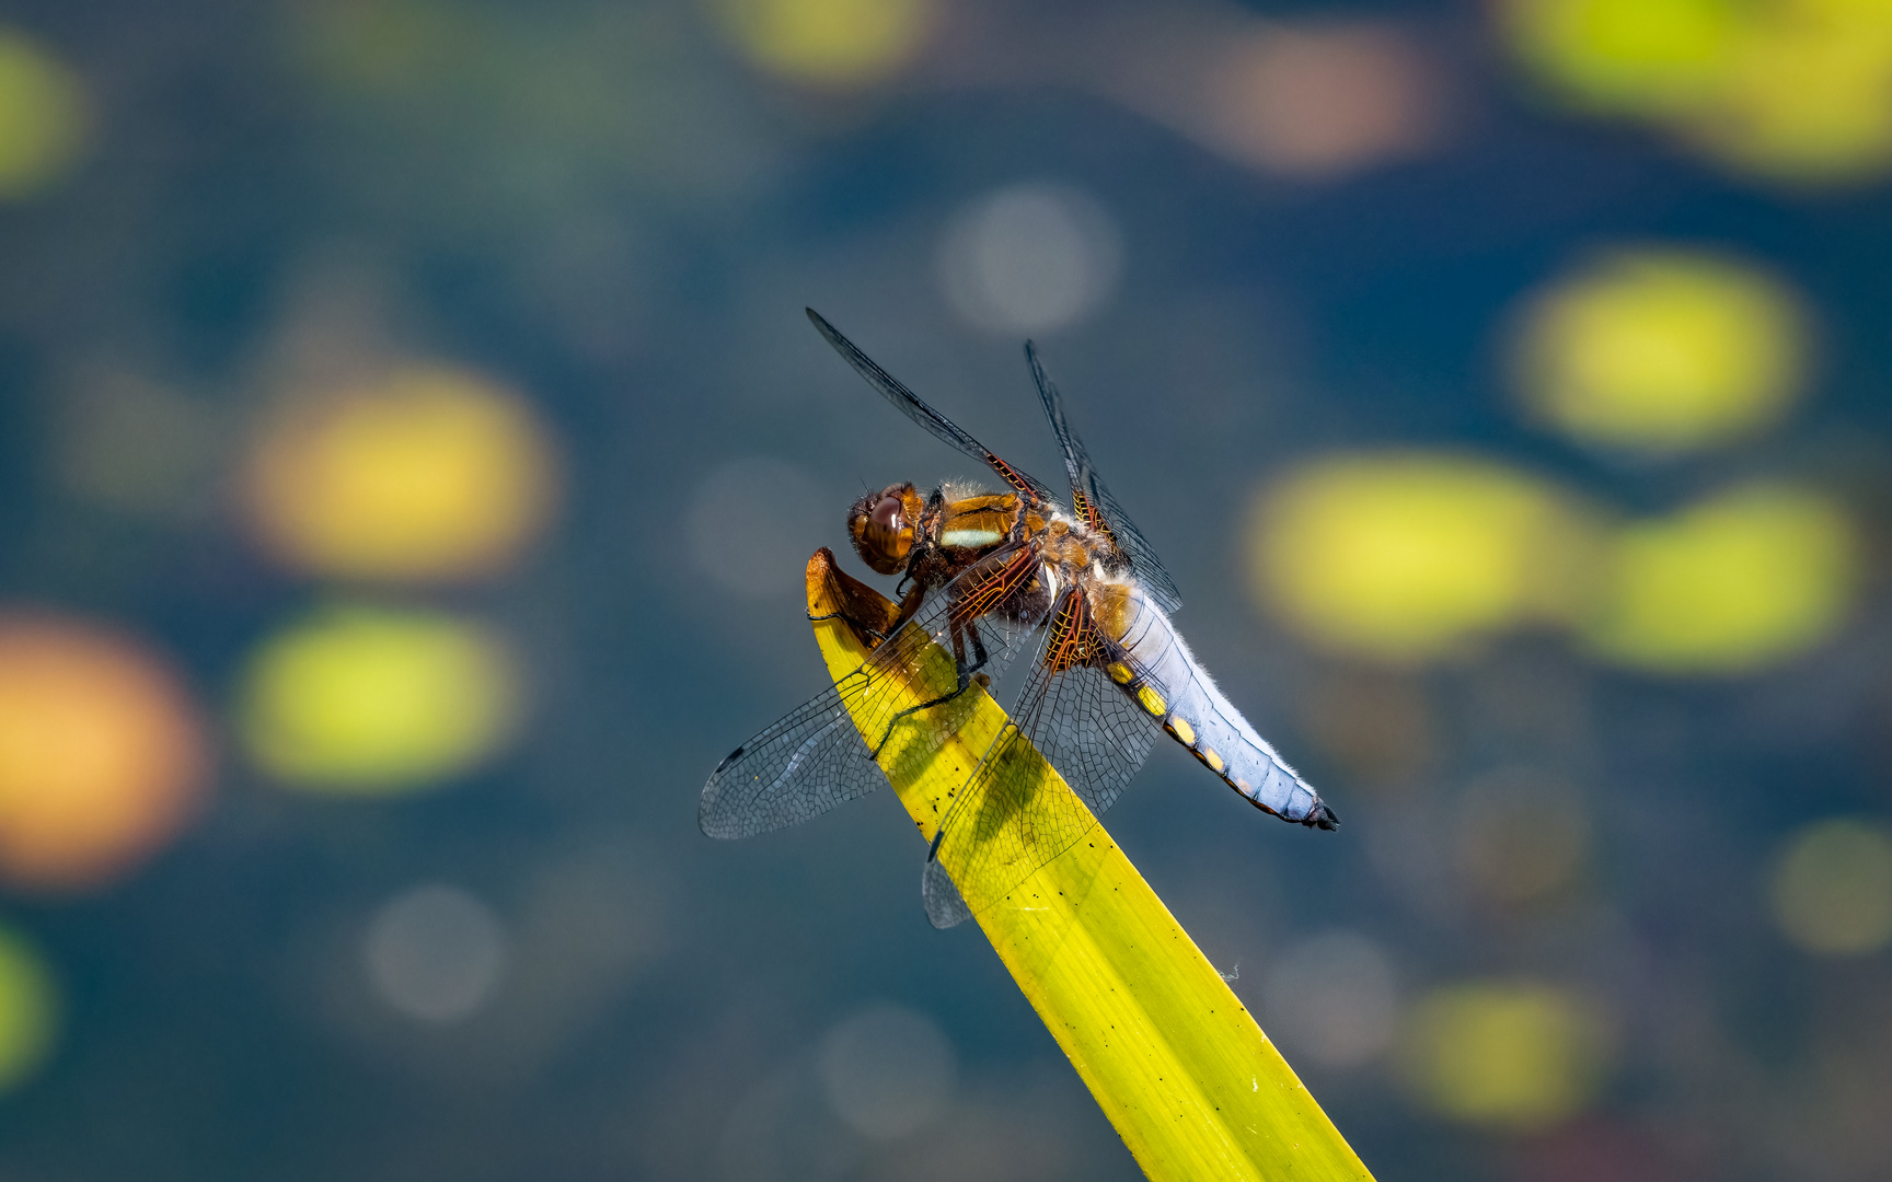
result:
[[[1517,340],[1529,408],[1591,444],[1682,452],[1773,426],[1805,384],[1799,301],[1707,253],[1610,252],[1538,295]]]

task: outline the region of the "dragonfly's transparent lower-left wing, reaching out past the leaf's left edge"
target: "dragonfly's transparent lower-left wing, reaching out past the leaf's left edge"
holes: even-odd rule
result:
[[[999,677],[1037,626],[991,613],[1037,571],[1029,545],[995,550],[935,592],[859,669],[736,747],[704,785],[696,821],[711,838],[798,825],[923,762],[967,719],[976,673]],[[925,707],[902,707],[920,690]],[[868,736],[868,738],[863,738]]]

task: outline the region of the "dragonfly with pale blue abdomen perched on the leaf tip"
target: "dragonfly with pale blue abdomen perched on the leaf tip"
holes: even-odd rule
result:
[[[990,467],[1003,488],[944,482],[921,494],[904,482],[850,507],[853,550],[874,573],[901,575],[899,605],[876,598],[884,613],[848,615],[872,645],[861,668],[717,764],[698,808],[706,834],[785,828],[874,791],[887,783],[884,753],[929,758],[965,724],[974,690],[1022,654],[1029,660],[1010,721],[952,794],[927,849],[921,900],[935,927],[991,906],[1082,840],[1162,736],[1264,813],[1340,828],[1175,630],[1175,582],[1103,484],[1029,340],[1025,361],[1063,452],[1067,501],[921,401],[814,308],[808,320],[897,410]],[[927,687],[921,702],[914,687]],[[1037,792],[1035,762],[1020,758],[1031,749],[1077,802]],[[954,842],[969,855],[957,883],[940,862]]]

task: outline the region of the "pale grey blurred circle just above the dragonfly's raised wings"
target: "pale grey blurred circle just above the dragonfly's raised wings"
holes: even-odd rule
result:
[[[961,210],[940,240],[946,299],[993,333],[1073,325],[1116,291],[1124,244],[1095,200],[1067,185],[1020,183]]]

